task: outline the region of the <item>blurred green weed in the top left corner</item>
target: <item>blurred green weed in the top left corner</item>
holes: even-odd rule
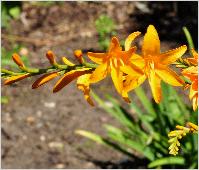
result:
[[[10,20],[19,19],[21,14],[21,2],[3,1],[1,3],[1,27],[9,28]]]

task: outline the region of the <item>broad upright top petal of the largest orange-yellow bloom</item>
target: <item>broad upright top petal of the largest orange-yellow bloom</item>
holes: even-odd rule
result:
[[[147,32],[144,35],[144,42],[142,46],[143,56],[157,55],[160,53],[160,40],[158,33],[153,25],[149,25]]]

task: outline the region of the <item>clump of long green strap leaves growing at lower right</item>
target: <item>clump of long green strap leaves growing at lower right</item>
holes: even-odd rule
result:
[[[98,104],[122,127],[104,125],[106,137],[83,130],[77,133],[129,157],[139,153],[150,162],[148,168],[197,168],[197,135],[182,139],[178,157],[169,155],[167,136],[177,124],[185,125],[187,121],[197,123],[197,112],[186,106],[173,87],[162,84],[162,88],[164,98],[159,105],[152,103],[141,87],[137,88],[135,93],[140,106],[132,101],[128,109],[109,95],[107,98],[111,106],[107,105],[93,93]]]

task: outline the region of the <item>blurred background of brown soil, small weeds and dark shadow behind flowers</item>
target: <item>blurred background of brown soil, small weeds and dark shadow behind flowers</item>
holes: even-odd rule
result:
[[[1,63],[14,70],[14,52],[34,67],[49,65],[47,50],[58,59],[67,56],[76,62],[73,50],[104,51],[111,36],[123,43],[134,31],[144,35],[149,24],[159,33],[162,51],[187,44],[183,26],[198,46],[198,2],[15,1],[2,2],[1,16]],[[142,38],[136,40],[138,48],[141,42]],[[74,133],[84,129],[103,135],[101,124],[117,126],[115,119],[97,104],[88,106],[75,82],[52,94],[56,81],[32,90],[35,79],[2,86],[2,168],[129,168],[121,163],[126,159],[122,153]],[[108,93],[120,100],[110,79],[93,90],[102,98]],[[149,89],[147,96],[151,98]],[[146,167],[143,161],[132,164],[131,168]]]

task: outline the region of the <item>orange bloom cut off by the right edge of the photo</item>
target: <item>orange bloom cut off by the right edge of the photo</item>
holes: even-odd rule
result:
[[[191,81],[189,98],[193,102],[193,110],[196,110],[198,107],[198,67],[188,67],[182,71],[182,74]]]

